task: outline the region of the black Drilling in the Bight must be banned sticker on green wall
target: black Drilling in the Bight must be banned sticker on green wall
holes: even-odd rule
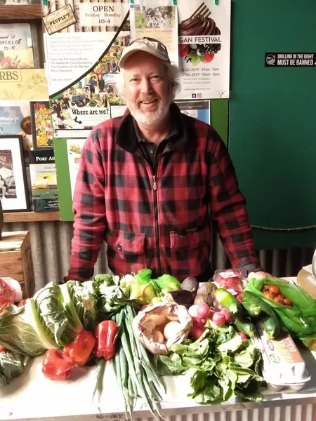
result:
[[[316,53],[265,53],[265,67],[316,67]]]

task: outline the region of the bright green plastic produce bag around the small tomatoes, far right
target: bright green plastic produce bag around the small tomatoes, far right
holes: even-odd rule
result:
[[[263,286],[266,284],[277,286],[284,297],[291,300],[293,306],[282,305],[266,297],[262,292]],[[263,279],[250,279],[247,288],[275,310],[291,333],[298,337],[316,335],[316,302],[296,283],[271,276]]]

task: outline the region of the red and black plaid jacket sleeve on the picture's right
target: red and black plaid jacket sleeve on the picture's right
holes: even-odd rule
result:
[[[262,269],[254,250],[245,199],[239,190],[228,149],[216,132],[212,137],[213,147],[208,156],[211,215],[218,222],[220,240],[232,266],[239,267],[247,276],[248,268]]]

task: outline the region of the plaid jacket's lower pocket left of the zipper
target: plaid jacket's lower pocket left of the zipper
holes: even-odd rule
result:
[[[107,261],[114,274],[137,273],[146,267],[145,234],[126,234],[123,231],[107,232]]]

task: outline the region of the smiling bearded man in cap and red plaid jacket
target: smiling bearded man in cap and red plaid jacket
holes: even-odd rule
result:
[[[119,60],[128,109],[100,123],[81,153],[67,279],[93,275],[101,243],[114,274],[209,281],[211,221],[233,267],[267,276],[254,250],[244,196],[223,141],[173,102],[178,67],[156,39],[136,39]],[[256,272],[254,274],[254,272]]]

